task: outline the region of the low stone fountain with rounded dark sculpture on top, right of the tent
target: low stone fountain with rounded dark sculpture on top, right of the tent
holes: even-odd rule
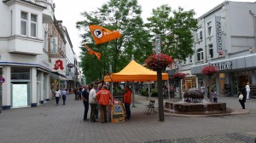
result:
[[[199,89],[189,89],[183,94],[183,100],[166,102],[166,109],[181,114],[218,114],[226,113],[226,103],[214,103],[204,99]]]

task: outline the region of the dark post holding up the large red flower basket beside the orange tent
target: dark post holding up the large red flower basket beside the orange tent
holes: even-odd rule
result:
[[[155,35],[155,54],[160,54],[160,34]],[[159,107],[159,121],[165,121],[164,113],[164,100],[163,100],[163,81],[162,81],[162,70],[157,70],[157,90],[158,90],[158,107]]]

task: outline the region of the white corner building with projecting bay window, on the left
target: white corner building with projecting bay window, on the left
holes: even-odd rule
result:
[[[51,51],[49,25],[55,22],[54,4],[52,0],[3,0],[0,14],[0,108],[44,104],[51,99],[51,75],[66,79],[66,71],[56,72],[52,66],[53,58],[66,61],[66,53],[61,53],[66,45],[56,49],[56,56]]]

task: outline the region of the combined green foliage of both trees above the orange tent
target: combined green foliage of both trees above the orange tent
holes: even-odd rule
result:
[[[153,9],[153,15],[148,18],[147,24],[143,24],[141,13],[142,8],[137,0],[109,0],[95,11],[82,13],[84,19],[78,21],[76,26],[83,30],[83,42],[102,54],[99,61],[95,55],[87,54],[81,47],[83,51],[80,66],[86,83],[103,78],[110,65],[112,72],[119,72],[131,61],[132,54],[138,63],[143,64],[153,54],[151,40],[155,34],[161,36],[162,53],[172,56],[172,59],[184,60],[194,53],[192,31],[197,27],[197,20],[193,18],[194,10],[172,10],[170,6],[162,5]],[[90,25],[102,26],[111,31],[118,30],[121,37],[96,45],[90,34]]]

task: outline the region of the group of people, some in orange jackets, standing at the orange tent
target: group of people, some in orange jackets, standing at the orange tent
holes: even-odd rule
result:
[[[84,85],[81,90],[81,99],[84,103],[84,121],[97,122],[99,113],[101,123],[107,123],[111,118],[111,105],[113,96],[108,90],[107,85],[101,83],[96,85]],[[125,94],[123,98],[125,104],[126,119],[131,118],[131,89],[129,86],[125,87]],[[90,119],[87,118],[87,114],[90,106]],[[98,112],[99,111],[99,112]]]

